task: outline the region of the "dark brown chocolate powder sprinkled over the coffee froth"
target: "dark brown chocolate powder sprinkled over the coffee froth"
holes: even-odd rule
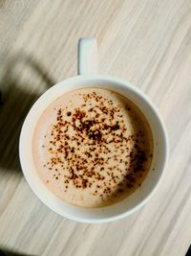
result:
[[[116,198],[139,185],[137,179],[145,172],[151,152],[143,147],[144,132],[132,134],[122,106],[111,99],[96,91],[80,97],[83,104],[56,109],[55,123],[47,134],[50,160],[44,166],[56,172],[56,180],[64,176],[65,192],[72,185],[79,191],[93,188],[92,195],[102,200],[109,195]],[[132,107],[124,108],[132,113]]]

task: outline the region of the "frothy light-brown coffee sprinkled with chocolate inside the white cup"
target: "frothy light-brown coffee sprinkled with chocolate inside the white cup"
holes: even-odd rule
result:
[[[41,115],[33,161],[54,195],[83,207],[129,197],[148,174],[153,137],[130,100],[102,88],[63,94]]]

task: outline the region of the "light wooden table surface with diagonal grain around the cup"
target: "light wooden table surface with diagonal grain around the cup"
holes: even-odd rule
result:
[[[96,37],[99,71],[159,107],[170,161],[155,197],[106,224],[67,221],[22,175],[18,136],[33,101],[76,74],[79,37]],[[31,255],[176,256],[191,242],[191,1],[0,1],[0,248]]]

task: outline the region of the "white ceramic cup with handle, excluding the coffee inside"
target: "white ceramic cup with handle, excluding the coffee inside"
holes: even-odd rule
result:
[[[168,158],[167,133],[155,105],[135,85],[118,78],[98,75],[96,72],[96,39],[81,38],[78,43],[78,76],[55,84],[32,105],[23,124],[19,143],[23,174],[33,193],[57,214],[70,220],[91,223],[117,221],[143,206],[159,187]],[[83,208],[57,198],[41,181],[32,159],[32,136],[39,117],[55,99],[69,91],[93,86],[116,91],[138,105],[153,132],[154,154],[150,172],[140,188],[129,198],[107,207]]]

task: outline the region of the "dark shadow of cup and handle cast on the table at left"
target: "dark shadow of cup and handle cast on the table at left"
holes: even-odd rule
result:
[[[43,90],[35,89],[36,84],[43,84]],[[23,121],[35,100],[53,84],[45,69],[30,56],[19,54],[6,63],[0,77],[2,170],[20,171],[18,142]]]

